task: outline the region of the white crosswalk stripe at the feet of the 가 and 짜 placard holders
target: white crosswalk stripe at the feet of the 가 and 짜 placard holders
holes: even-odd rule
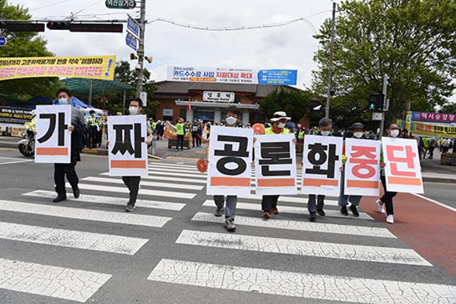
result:
[[[45,191],[45,190],[36,190],[33,192],[24,193],[25,196],[34,196],[34,197],[43,197],[46,199],[53,199],[56,197],[56,192]],[[87,201],[94,204],[110,204],[110,205],[120,205],[126,206],[128,204],[128,199],[123,199],[120,197],[113,196],[99,196],[99,195],[90,195],[90,194],[81,194],[78,199],[71,199],[68,196],[69,201]],[[152,208],[152,209],[165,209],[180,211],[185,207],[185,204],[182,203],[172,203],[168,201],[148,201],[146,199],[137,199],[136,206],[141,208]]]

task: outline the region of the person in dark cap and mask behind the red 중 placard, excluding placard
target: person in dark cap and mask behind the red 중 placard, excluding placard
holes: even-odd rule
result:
[[[344,136],[344,141],[345,141],[345,138],[351,138],[351,137],[358,138],[358,139],[366,138],[366,137],[364,137],[364,125],[361,122],[355,122],[353,125],[351,125],[350,129],[351,129],[351,132],[345,133],[346,136]],[[345,159],[346,159],[345,155],[343,155],[343,164],[345,164]],[[351,202],[351,205],[348,208],[353,213],[353,216],[358,217],[359,213],[358,213],[357,207],[359,206],[359,203],[363,196],[345,195],[345,193],[343,192],[344,174],[345,174],[345,170],[342,170],[341,193],[339,194],[338,205],[341,206],[341,213],[345,216],[348,216],[348,211],[347,211],[348,201]]]

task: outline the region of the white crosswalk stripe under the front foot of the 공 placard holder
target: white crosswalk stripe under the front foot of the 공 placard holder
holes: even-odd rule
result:
[[[216,217],[211,213],[198,212],[193,216],[192,221],[207,221],[212,223],[223,223],[224,219]],[[394,234],[386,228],[376,228],[367,226],[352,226],[340,224],[311,223],[309,221],[290,221],[286,219],[264,220],[261,217],[236,216],[236,224],[278,228],[297,231],[321,232],[327,234],[351,234],[354,236],[377,236],[379,238],[395,238]]]

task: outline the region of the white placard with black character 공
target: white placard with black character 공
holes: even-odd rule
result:
[[[208,195],[250,194],[253,136],[252,129],[211,127]]]

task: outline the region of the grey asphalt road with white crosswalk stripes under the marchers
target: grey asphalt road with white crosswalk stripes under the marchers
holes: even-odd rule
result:
[[[327,216],[309,224],[299,195],[282,197],[281,214],[264,221],[250,197],[239,199],[229,234],[192,164],[150,162],[138,209],[126,214],[128,193],[104,174],[105,157],[83,156],[83,195],[70,190],[59,204],[53,166],[29,160],[0,149],[0,303],[456,302],[456,273],[391,232],[413,217],[403,224],[398,214],[393,226],[371,211],[347,218],[330,198]],[[426,192],[454,196],[448,184]]]

